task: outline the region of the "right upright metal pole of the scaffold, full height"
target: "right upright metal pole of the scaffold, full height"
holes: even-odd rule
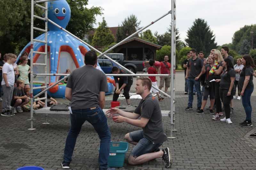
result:
[[[176,137],[173,137],[172,136],[172,130],[173,130],[173,88],[174,88],[174,85],[173,85],[173,71],[174,71],[174,67],[175,67],[175,63],[174,63],[174,40],[175,40],[175,36],[174,35],[174,0],[171,1],[172,3],[172,37],[171,37],[171,110],[170,110],[170,116],[171,116],[171,120],[170,120],[170,123],[171,123],[171,134],[170,134],[170,137],[168,137],[169,139],[175,139]]]

